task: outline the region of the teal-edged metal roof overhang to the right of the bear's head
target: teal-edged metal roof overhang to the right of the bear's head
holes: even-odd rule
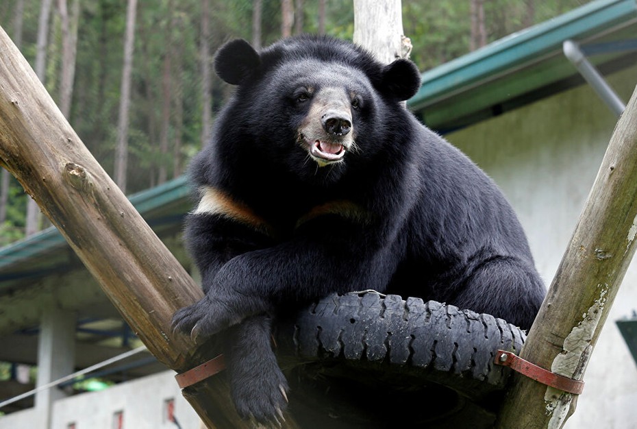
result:
[[[634,39],[636,23],[636,0],[591,1],[422,73],[421,89],[408,106],[440,132],[469,125],[525,103],[519,97],[532,101],[560,90],[555,86],[560,82],[568,87],[564,80],[569,77],[579,78],[562,53],[564,40]],[[600,66],[623,56],[627,54],[607,52],[589,60]]]

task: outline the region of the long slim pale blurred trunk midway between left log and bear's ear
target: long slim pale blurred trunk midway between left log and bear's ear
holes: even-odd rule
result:
[[[137,0],[128,0],[126,10],[126,34],[124,36],[124,66],[122,71],[119,117],[117,122],[117,147],[115,151],[115,183],[126,193],[126,170],[128,167],[128,111],[130,108],[131,72],[135,41],[135,15]]]

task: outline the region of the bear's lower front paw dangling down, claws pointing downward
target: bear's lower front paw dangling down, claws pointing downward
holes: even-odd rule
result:
[[[232,364],[231,364],[232,365]],[[281,426],[288,406],[288,382],[274,355],[254,356],[231,368],[232,399],[242,418],[253,417],[262,424]]]

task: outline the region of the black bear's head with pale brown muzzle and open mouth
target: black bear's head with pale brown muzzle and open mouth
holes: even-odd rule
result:
[[[326,36],[295,36],[260,52],[232,40],[216,53],[214,68],[238,86],[229,109],[242,144],[251,140],[260,162],[312,182],[334,182],[396,149],[386,142],[397,140],[393,133],[406,112],[400,102],[421,84],[412,62],[385,65]]]

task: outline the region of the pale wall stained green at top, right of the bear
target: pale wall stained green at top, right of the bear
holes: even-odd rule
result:
[[[627,103],[637,68],[608,82]],[[449,134],[503,189],[550,285],[617,118],[589,86],[560,93]],[[615,321],[637,310],[637,263],[629,267],[584,376],[567,429],[637,428],[637,365]]]

